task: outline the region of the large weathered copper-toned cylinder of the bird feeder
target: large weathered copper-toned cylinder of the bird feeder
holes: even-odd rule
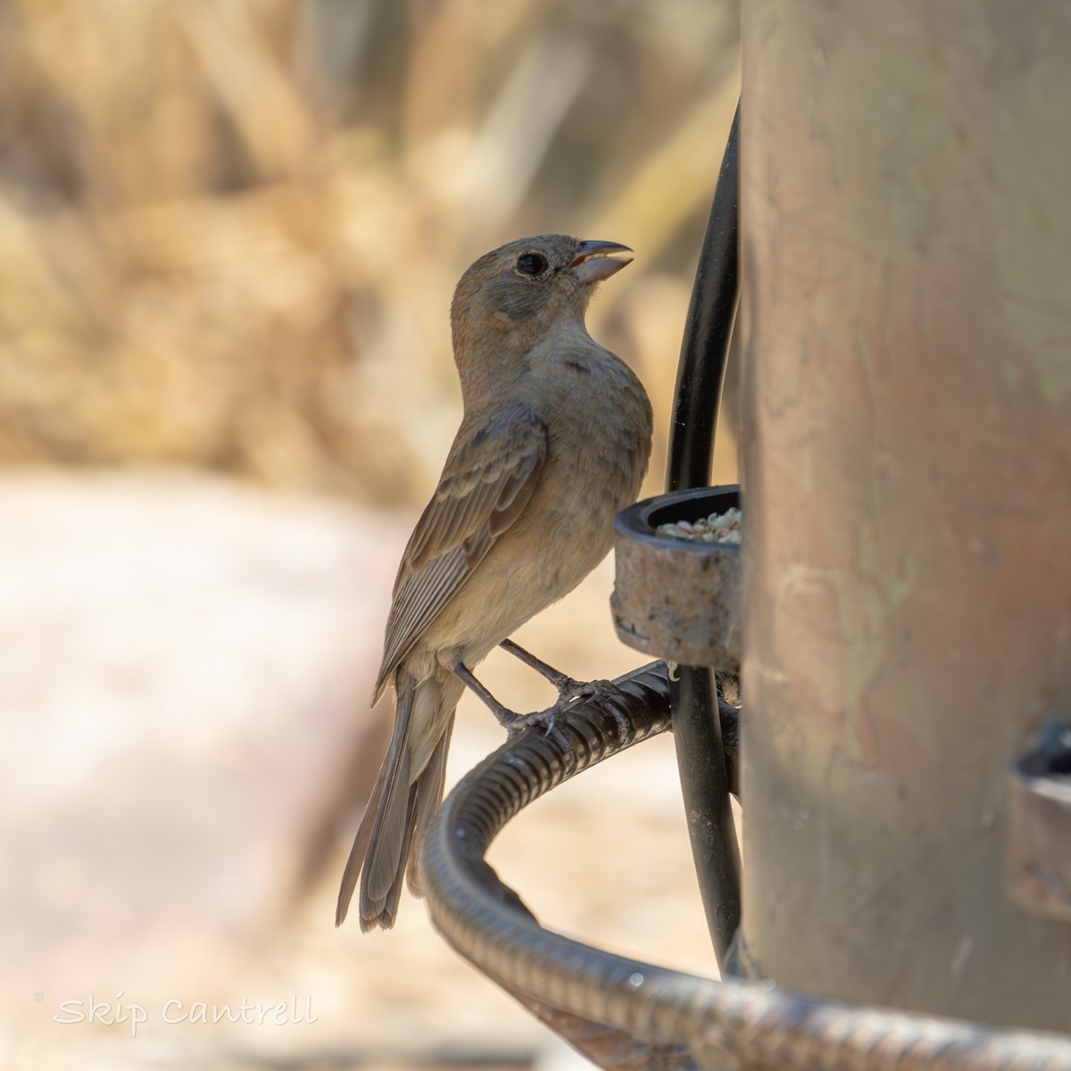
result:
[[[1071,709],[1071,5],[741,17],[746,950],[1071,1030],[1005,856]]]

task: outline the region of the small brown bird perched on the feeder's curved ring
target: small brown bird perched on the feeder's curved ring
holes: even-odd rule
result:
[[[606,556],[614,515],[639,491],[651,405],[632,371],[588,334],[595,285],[631,257],[616,242],[543,235],[486,254],[451,306],[465,413],[394,582],[373,703],[395,688],[394,733],[338,894],[360,877],[361,929],[389,929],[406,869],[442,800],[466,684],[509,728],[553,719],[577,685],[519,648],[561,693],[537,715],[506,710],[471,669]],[[583,687],[582,687],[583,688]]]

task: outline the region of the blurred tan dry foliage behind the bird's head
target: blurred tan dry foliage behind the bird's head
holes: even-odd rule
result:
[[[718,0],[0,0],[0,462],[403,501],[465,266],[625,242],[664,421],[737,93]],[[655,466],[658,466],[655,462]]]

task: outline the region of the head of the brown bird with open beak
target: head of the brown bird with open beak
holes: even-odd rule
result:
[[[568,235],[540,235],[510,242],[480,257],[454,292],[454,353],[461,359],[477,341],[521,346],[547,331],[583,326],[595,285],[632,257],[617,242],[585,242]]]

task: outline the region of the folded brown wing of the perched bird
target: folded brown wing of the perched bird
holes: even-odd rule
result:
[[[521,515],[546,456],[546,428],[524,405],[462,429],[402,557],[376,696],[420,634]]]

